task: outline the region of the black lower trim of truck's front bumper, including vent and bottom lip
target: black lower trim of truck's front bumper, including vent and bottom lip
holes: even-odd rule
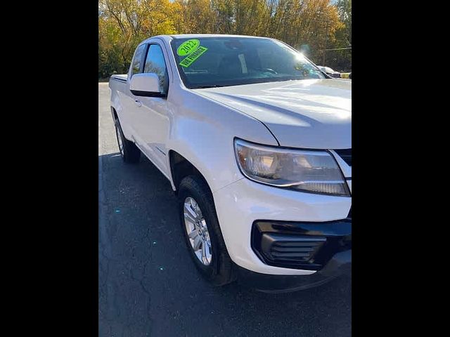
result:
[[[239,282],[268,293],[324,284],[352,269],[352,218],[325,223],[255,221],[252,249],[268,265],[316,270],[311,275],[266,275],[236,267]]]

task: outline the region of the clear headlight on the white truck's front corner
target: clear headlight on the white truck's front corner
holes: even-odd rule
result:
[[[334,157],[325,150],[290,150],[236,139],[240,171],[251,180],[303,192],[349,196]]]

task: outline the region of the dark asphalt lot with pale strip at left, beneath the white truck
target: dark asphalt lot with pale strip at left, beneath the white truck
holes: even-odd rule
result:
[[[98,336],[351,336],[349,275],[275,295],[200,277],[169,181],[146,158],[120,157],[108,84],[98,84],[98,237]]]

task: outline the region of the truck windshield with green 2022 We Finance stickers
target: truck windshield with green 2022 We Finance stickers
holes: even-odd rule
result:
[[[301,53],[272,39],[198,37],[171,44],[188,88],[325,78]]]

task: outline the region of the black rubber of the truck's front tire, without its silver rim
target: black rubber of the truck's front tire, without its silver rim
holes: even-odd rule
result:
[[[181,180],[179,186],[179,213],[181,218],[181,230],[184,233],[184,239],[188,251],[191,255],[195,266],[200,273],[209,282],[215,286],[223,286],[233,282],[236,277],[233,275],[233,262],[226,250],[224,238],[222,237],[219,227],[219,220],[217,220],[216,209],[214,207],[214,200],[212,193],[207,183],[199,176],[187,176]],[[188,238],[186,225],[184,223],[184,201],[187,197],[192,197],[197,201],[198,206],[202,211],[203,218],[207,223],[208,232],[210,233],[212,258],[210,265],[204,265],[195,256],[193,247]]]

